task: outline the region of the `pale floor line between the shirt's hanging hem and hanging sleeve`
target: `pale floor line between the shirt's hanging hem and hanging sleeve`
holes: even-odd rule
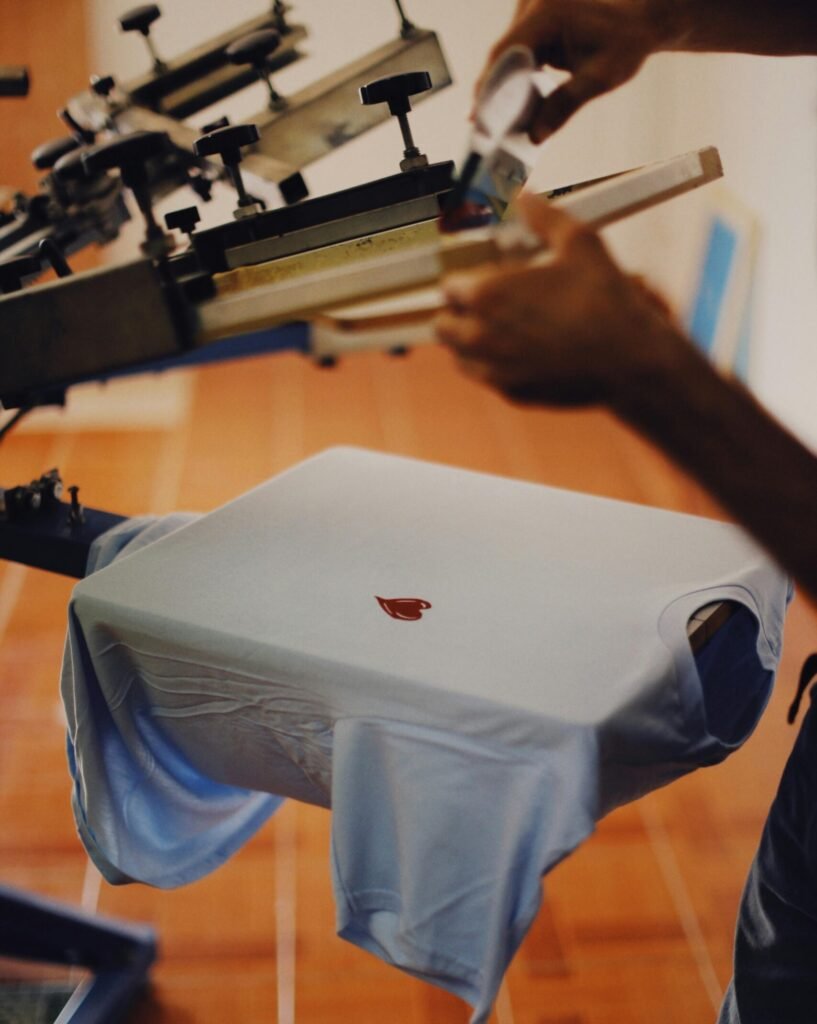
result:
[[[297,813],[297,805],[290,801],[274,824],[277,1024],[295,1024]]]

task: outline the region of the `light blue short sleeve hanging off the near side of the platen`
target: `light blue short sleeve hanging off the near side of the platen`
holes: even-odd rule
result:
[[[482,1024],[542,876],[594,828],[592,730],[565,729],[526,759],[438,729],[344,719],[333,763],[339,935],[457,992]]]

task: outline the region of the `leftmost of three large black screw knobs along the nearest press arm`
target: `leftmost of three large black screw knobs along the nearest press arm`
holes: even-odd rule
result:
[[[142,251],[150,256],[164,255],[170,246],[167,236],[154,216],[145,164],[155,157],[166,154],[169,148],[170,139],[165,132],[137,131],[91,146],[82,155],[83,166],[90,176],[113,170],[120,172],[122,183],[133,193],[144,218],[146,236]]]

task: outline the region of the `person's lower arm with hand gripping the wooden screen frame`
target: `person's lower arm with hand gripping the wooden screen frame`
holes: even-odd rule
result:
[[[548,258],[449,275],[437,338],[514,400],[612,409],[817,598],[817,458],[713,369],[597,234],[534,197],[520,209]]]

